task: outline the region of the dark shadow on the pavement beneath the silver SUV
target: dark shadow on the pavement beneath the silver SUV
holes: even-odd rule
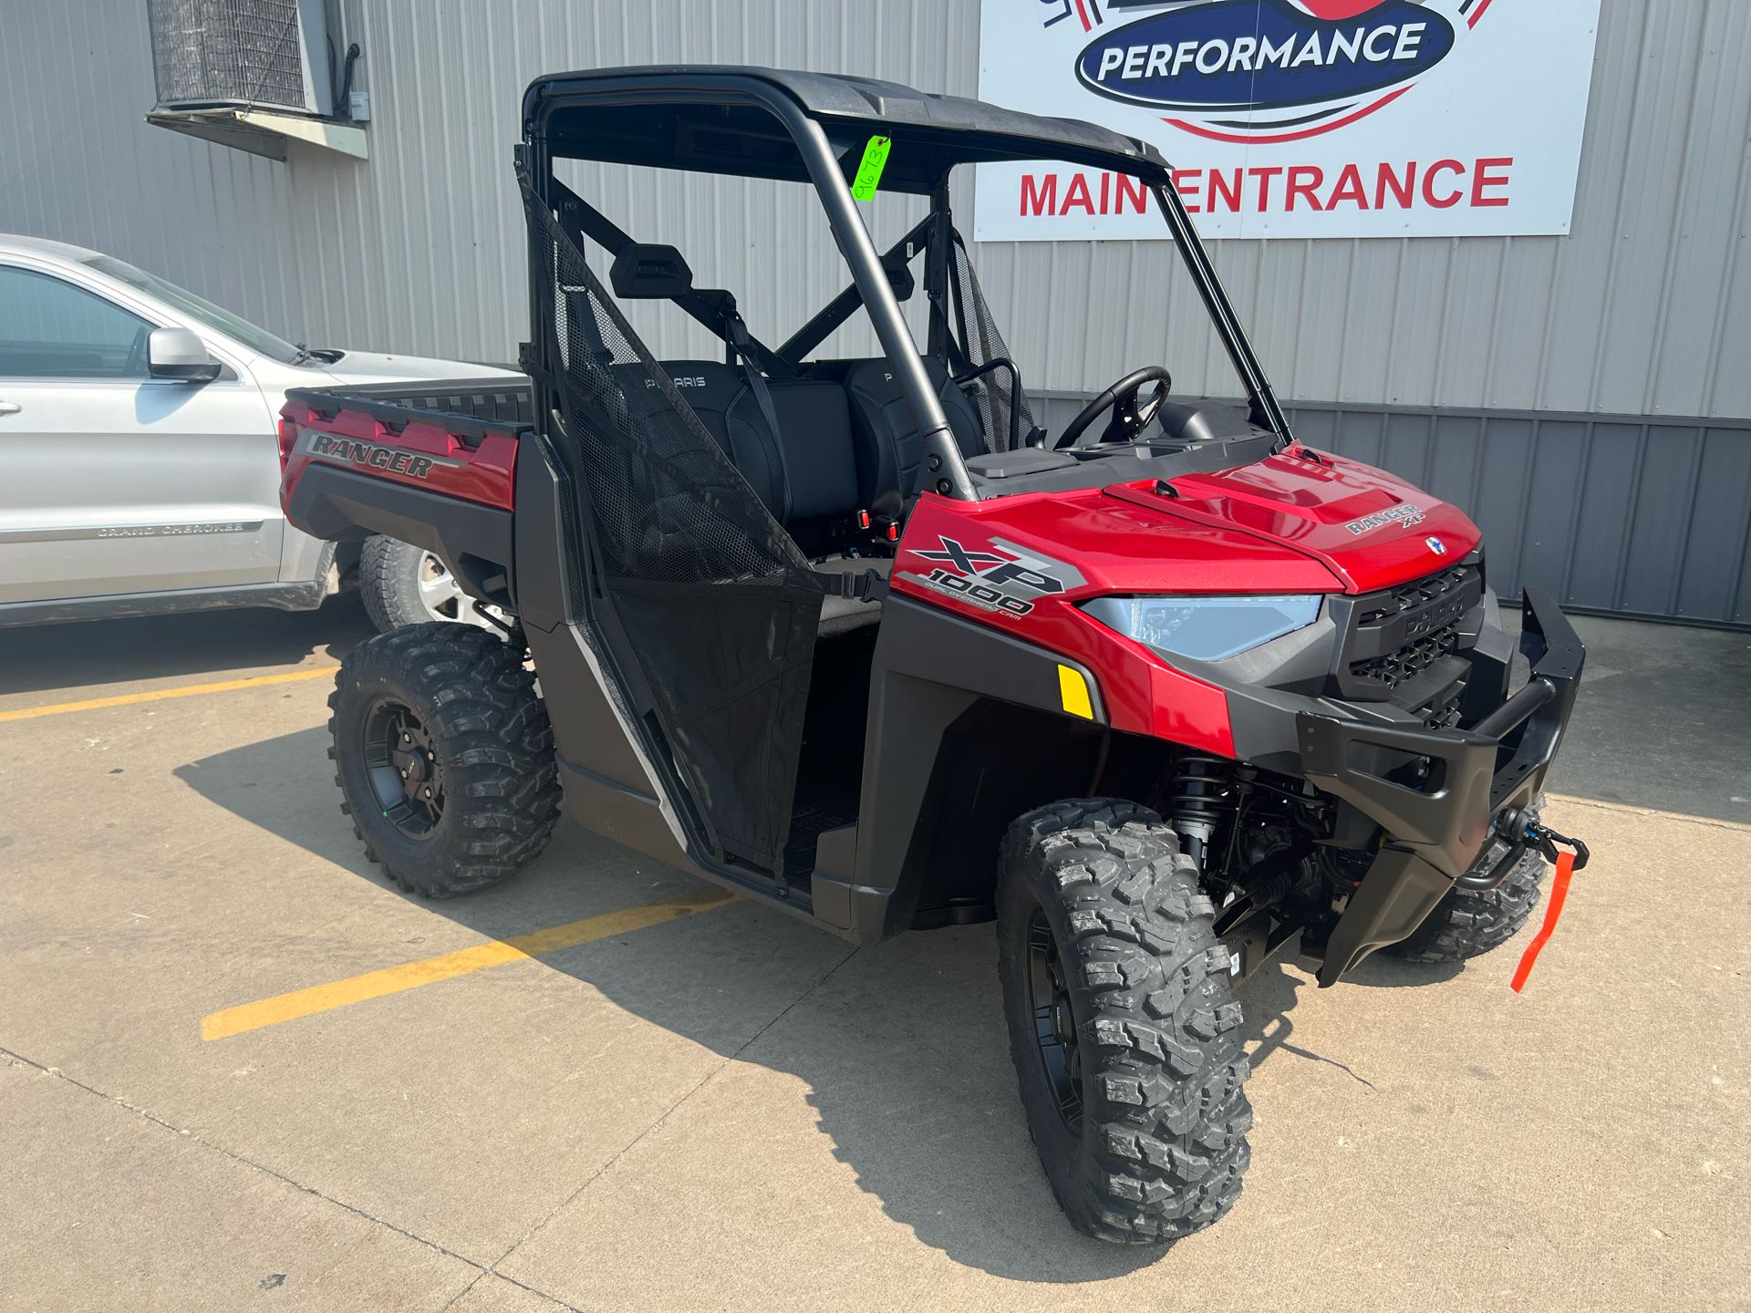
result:
[[[317,611],[238,607],[4,630],[0,695],[340,660],[375,634],[354,592]]]

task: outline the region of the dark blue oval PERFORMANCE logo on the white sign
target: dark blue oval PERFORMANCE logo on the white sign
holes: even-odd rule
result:
[[[1163,0],[1077,56],[1098,96],[1166,110],[1220,140],[1306,138],[1355,123],[1434,70],[1490,0]],[[1093,26],[1093,25],[1091,25]]]

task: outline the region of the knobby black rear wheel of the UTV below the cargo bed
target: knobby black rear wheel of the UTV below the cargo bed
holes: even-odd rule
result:
[[[546,847],[553,730],[503,639],[448,623],[378,634],[341,662],[329,709],[341,811],[403,889],[483,889]]]

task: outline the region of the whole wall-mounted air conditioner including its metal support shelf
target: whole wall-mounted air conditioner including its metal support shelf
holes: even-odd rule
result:
[[[366,98],[334,0],[147,0],[159,128],[285,159],[287,140],[366,158]],[[345,103],[338,103],[345,102]]]

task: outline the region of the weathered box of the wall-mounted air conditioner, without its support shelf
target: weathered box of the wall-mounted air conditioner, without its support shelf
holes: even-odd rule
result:
[[[147,16],[159,109],[334,112],[320,0],[147,0]]]

